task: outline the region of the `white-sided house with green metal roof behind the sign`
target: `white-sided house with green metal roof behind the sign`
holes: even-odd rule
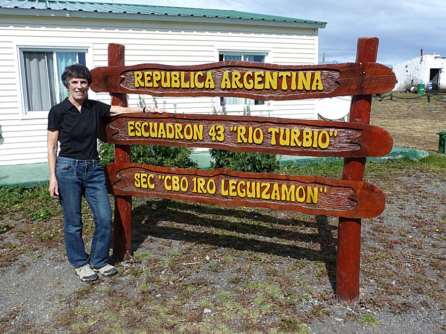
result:
[[[222,60],[317,64],[325,22],[230,10],[0,0],[0,165],[47,160],[47,116],[67,92],[66,65],[107,66],[109,43],[125,46],[126,65],[193,65]],[[89,93],[110,103],[110,95]],[[137,95],[129,96],[136,106]],[[153,105],[152,97],[146,102]],[[158,98],[167,111],[210,113],[219,98]],[[246,104],[253,114],[317,119],[315,100],[228,98],[228,112]]]

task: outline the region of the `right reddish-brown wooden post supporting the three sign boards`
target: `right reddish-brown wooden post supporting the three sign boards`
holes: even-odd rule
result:
[[[356,62],[376,62],[377,38],[359,38]],[[370,123],[372,95],[353,95],[350,122]],[[362,181],[366,158],[345,158],[342,180]],[[359,298],[361,219],[339,218],[337,230],[336,297],[339,301]]]

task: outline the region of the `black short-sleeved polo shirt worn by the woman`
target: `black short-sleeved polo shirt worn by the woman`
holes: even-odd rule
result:
[[[78,160],[99,158],[99,119],[109,116],[110,108],[109,104],[85,99],[79,112],[68,97],[52,107],[48,130],[59,130],[59,156]]]

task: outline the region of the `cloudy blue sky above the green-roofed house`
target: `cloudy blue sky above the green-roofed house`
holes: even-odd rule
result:
[[[230,9],[327,22],[319,30],[319,62],[350,62],[358,37],[378,37],[377,61],[392,66],[424,54],[446,56],[445,0],[103,0]]]

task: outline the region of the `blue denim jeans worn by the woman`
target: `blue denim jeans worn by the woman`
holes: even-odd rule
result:
[[[108,264],[111,239],[111,207],[99,160],[57,157],[56,178],[65,221],[65,248],[74,267],[90,263],[99,269]],[[90,256],[82,239],[82,196],[85,196],[95,222]]]

